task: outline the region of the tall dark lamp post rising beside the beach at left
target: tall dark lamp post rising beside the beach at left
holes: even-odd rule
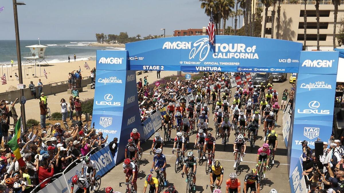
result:
[[[23,83],[23,74],[22,74],[22,66],[21,66],[21,55],[20,55],[20,41],[19,41],[19,27],[18,27],[18,12],[17,12],[17,5],[25,5],[25,3],[17,3],[17,0],[13,0],[13,14],[14,14],[14,27],[15,27],[15,41],[17,43],[17,58],[18,58],[18,73],[19,73],[19,83]],[[24,90],[20,90],[20,99],[24,96]],[[26,120],[25,120],[25,105],[21,102],[21,113],[23,119],[23,128],[26,128]]]

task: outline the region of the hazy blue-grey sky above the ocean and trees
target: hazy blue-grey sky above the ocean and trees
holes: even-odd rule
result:
[[[20,1],[20,0],[18,0]],[[20,39],[95,40],[96,33],[129,36],[202,28],[209,18],[198,0],[21,0]],[[12,1],[0,1],[0,39],[15,39]],[[242,19],[241,19],[242,20]],[[231,25],[227,21],[226,25]],[[4,30],[5,29],[5,30]]]

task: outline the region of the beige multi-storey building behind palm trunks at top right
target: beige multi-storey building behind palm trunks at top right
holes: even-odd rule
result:
[[[301,1],[303,2],[303,1]],[[294,42],[303,43],[304,41],[304,28],[303,28],[303,14],[304,4],[289,4],[289,1],[281,3],[281,19],[280,19],[280,39],[290,40]],[[341,2],[343,4],[343,2]],[[257,3],[258,5],[258,3]],[[261,5],[261,4],[260,4]],[[307,13],[307,46],[316,46],[316,13],[315,13],[315,1],[309,1],[306,5]],[[263,6],[262,12],[262,29],[261,37],[263,37],[264,20],[265,20],[265,7]],[[277,34],[277,4],[274,23],[274,38]],[[268,23],[266,24],[265,37],[271,38],[271,11],[272,7],[268,11]],[[321,1],[319,5],[320,13],[320,46],[333,46],[333,26],[334,26],[334,6],[331,1]],[[337,27],[336,33],[339,33],[341,19],[344,18],[344,6],[338,6],[337,15]],[[338,42],[336,41],[338,45]]]

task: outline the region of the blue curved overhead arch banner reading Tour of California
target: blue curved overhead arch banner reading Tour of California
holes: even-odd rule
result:
[[[179,36],[126,44],[130,70],[298,72],[302,44],[279,39]]]

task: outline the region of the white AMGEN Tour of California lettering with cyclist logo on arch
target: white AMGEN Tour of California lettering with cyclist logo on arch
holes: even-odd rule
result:
[[[165,42],[162,49],[191,49],[189,59],[198,57],[200,61],[207,58],[210,51],[209,39],[207,37],[192,42]],[[246,46],[240,43],[214,44],[215,52],[213,58],[235,58],[235,59],[259,59],[255,53],[256,46]],[[192,48],[191,48],[192,47]]]

